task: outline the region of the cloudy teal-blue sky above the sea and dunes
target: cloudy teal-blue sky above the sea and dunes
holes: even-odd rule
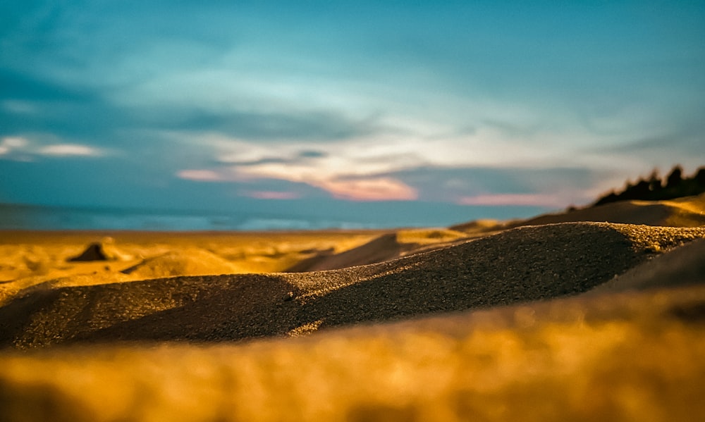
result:
[[[0,203],[582,206],[705,165],[704,40],[703,1],[3,1]]]

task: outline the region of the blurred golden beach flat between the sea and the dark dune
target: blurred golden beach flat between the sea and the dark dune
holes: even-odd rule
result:
[[[39,283],[76,285],[144,280],[149,275],[142,274],[150,271],[161,275],[286,271],[302,260],[319,254],[344,252],[386,232],[388,230],[263,233],[0,231],[0,304]],[[106,261],[72,261],[94,243],[102,246],[108,257]],[[210,264],[219,261],[219,265],[200,265],[200,260],[192,257],[195,254],[201,259],[208,256]],[[175,258],[175,255],[181,259],[169,258]],[[228,263],[225,271],[223,261]],[[129,271],[134,267],[140,271]]]

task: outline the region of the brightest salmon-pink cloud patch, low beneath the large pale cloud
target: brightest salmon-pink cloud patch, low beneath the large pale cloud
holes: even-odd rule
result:
[[[392,178],[326,180],[317,185],[336,198],[351,201],[410,201],[418,198],[413,187]]]

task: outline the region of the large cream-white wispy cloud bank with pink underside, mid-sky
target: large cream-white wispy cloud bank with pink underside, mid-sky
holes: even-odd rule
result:
[[[182,144],[199,145],[213,154],[211,166],[178,171],[200,181],[271,179],[317,187],[339,199],[412,200],[428,197],[397,174],[418,168],[540,168],[556,148],[518,145],[495,128],[458,131],[441,125],[401,128],[386,123],[369,136],[338,142],[268,142],[233,139],[215,132],[168,132]],[[551,139],[546,140],[551,143]],[[426,190],[438,190],[431,185]],[[455,200],[448,195],[441,200]]]

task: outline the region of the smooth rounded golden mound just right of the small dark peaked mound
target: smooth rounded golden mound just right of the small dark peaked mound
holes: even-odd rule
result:
[[[238,268],[202,249],[187,249],[147,258],[121,273],[138,278],[161,278],[176,275],[217,275],[236,273]]]

